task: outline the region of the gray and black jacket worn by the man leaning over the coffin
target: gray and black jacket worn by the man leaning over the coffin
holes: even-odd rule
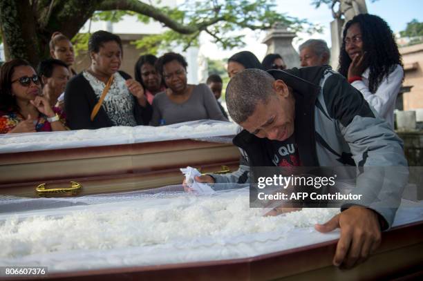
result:
[[[294,137],[302,166],[359,167],[356,184],[378,193],[377,202],[368,202],[368,207],[384,218],[383,229],[389,228],[408,180],[402,140],[368,105],[361,93],[330,66],[269,72],[293,90]],[[233,142],[241,148],[244,162],[232,174],[212,175],[216,183],[247,183],[250,166],[274,166],[269,139],[242,130]],[[386,184],[383,171],[376,175],[368,167],[402,167],[402,173]],[[382,182],[383,191],[380,186],[378,191],[372,190],[375,177]]]

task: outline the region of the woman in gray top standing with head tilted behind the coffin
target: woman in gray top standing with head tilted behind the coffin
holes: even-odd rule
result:
[[[151,125],[200,119],[227,121],[207,85],[187,84],[187,61],[182,55],[168,52],[158,59],[156,66],[168,88],[153,99]]]

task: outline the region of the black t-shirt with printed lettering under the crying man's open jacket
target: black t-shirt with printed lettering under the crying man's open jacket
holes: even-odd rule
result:
[[[285,139],[283,142],[276,140],[272,141],[272,145],[272,162],[274,166],[301,166],[294,134],[288,137],[288,139]]]

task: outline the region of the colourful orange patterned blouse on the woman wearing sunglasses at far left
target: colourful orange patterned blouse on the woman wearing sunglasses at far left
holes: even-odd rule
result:
[[[61,108],[53,107],[53,111],[60,117],[60,122],[66,126],[66,116]],[[25,120],[20,113],[0,111],[0,134],[6,134]],[[35,121],[34,121],[35,122]],[[37,123],[35,124],[37,132],[51,132],[51,124],[47,121],[47,116],[39,113]]]

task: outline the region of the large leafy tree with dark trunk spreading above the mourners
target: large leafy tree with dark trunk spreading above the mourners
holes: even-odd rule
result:
[[[0,28],[6,57],[21,57],[32,64],[48,57],[48,41],[53,32],[62,32],[82,47],[87,35],[77,33],[86,21],[118,22],[126,14],[136,16],[144,23],[158,21],[168,28],[160,35],[145,36],[135,42],[138,48],[153,53],[159,48],[171,50],[175,45],[185,49],[196,46],[200,32],[208,33],[221,48],[229,49],[243,46],[240,30],[245,28],[266,30],[274,23],[281,22],[292,31],[321,30],[304,19],[288,17],[276,11],[275,2],[187,0],[176,8],[169,8],[155,6],[147,0],[0,1]]]

